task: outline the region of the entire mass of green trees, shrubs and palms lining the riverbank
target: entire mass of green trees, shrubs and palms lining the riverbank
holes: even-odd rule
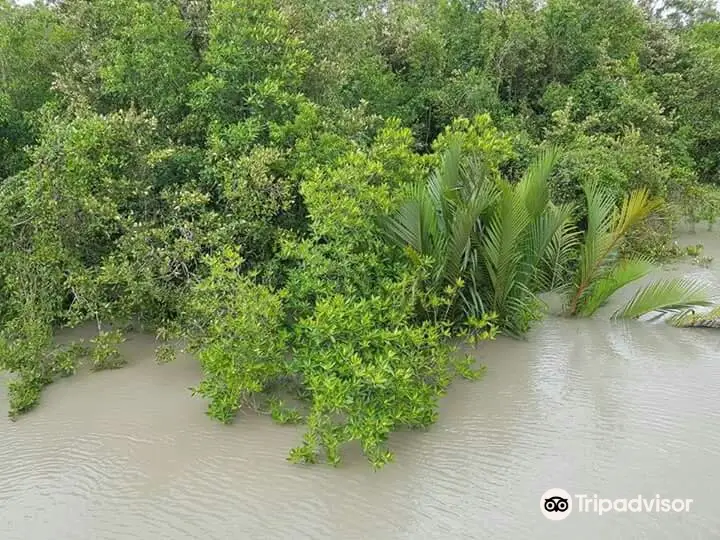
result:
[[[304,425],[293,462],[357,441],[381,468],[482,376],[458,339],[712,264],[673,233],[720,217],[713,6],[0,0],[11,418],[121,368],[134,321],[159,362],[187,345],[212,418],[260,410]],[[714,294],[661,279],[612,316],[716,328]]]

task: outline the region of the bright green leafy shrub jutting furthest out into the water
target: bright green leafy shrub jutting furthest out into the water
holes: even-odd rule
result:
[[[319,301],[293,337],[293,366],[312,395],[308,431],[291,460],[330,463],[359,441],[374,467],[392,459],[387,438],[402,426],[424,427],[451,379],[448,333],[412,323],[402,291]]]

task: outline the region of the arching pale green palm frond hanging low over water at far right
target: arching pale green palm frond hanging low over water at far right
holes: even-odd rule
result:
[[[707,284],[687,278],[664,279],[638,290],[613,318],[635,319],[652,311],[670,313],[710,304]]]

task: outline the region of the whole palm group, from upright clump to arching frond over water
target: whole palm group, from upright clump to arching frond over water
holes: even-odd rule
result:
[[[590,316],[625,285],[653,269],[647,258],[620,258],[628,233],[662,204],[647,190],[620,205],[598,184],[584,187],[587,230],[575,208],[550,200],[548,180],[555,148],[543,151],[517,183],[464,159],[453,142],[425,183],[385,220],[388,238],[415,260],[432,261],[425,286],[457,289],[450,316],[492,312],[503,331],[520,335],[537,318],[538,294],[559,292],[571,316]],[[662,280],[641,288],[613,317],[681,312],[708,305],[709,291],[689,279]]]

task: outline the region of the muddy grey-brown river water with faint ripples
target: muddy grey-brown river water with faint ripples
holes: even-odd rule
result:
[[[698,231],[709,269],[664,272],[720,292],[720,234]],[[291,465],[297,428],[243,415],[221,426],[188,387],[192,359],[159,366],[132,336],[131,364],[47,389],[0,419],[0,539],[720,538],[720,331],[548,318],[526,341],[475,353],[439,422],[393,437],[373,473]],[[0,391],[0,415],[6,413]],[[693,499],[687,513],[540,512],[550,488],[603,498]]]

